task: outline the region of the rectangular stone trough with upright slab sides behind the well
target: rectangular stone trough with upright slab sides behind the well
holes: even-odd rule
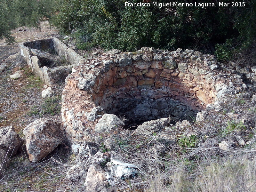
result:
[[[38,56],[33,55],[29,48],[36,50],[52,49],[60,57],[69,61],[69,66],[59,66],[48,68],[43,66]],[[72,71],[74,65],[84,61],[84,58],[77,54],[73,49],[68,48],[59,39],[52,37],[49,39],[31,41],[19,44],[19,51],[23,62],[26,62],[36,76],[39,76],[45,84],[51,85],[58,79],[65,79]]]

